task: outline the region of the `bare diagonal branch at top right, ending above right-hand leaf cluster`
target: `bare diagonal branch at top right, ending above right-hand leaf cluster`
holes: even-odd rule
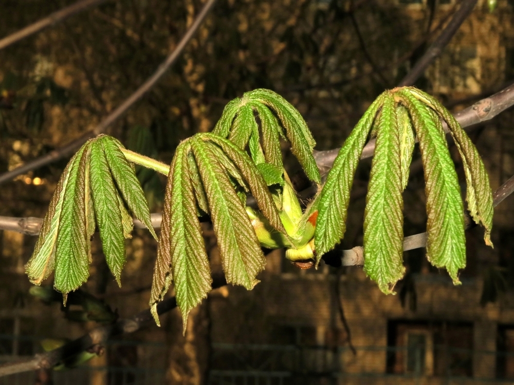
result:
[[[459,8],[453,15],[452,20],[448,23],[446,28],[436,38],[430,47],[427,49],[425,54],[416,62],[414,67],[409,73],[402,79],[399,87],[410,86],[425,72],[425,69],[438,57],[446,45],[450,42],[451,38],[457,32],[461,24],[466,20],[471,11],[476,5],[477,0],[464,0],[461,8]]]

